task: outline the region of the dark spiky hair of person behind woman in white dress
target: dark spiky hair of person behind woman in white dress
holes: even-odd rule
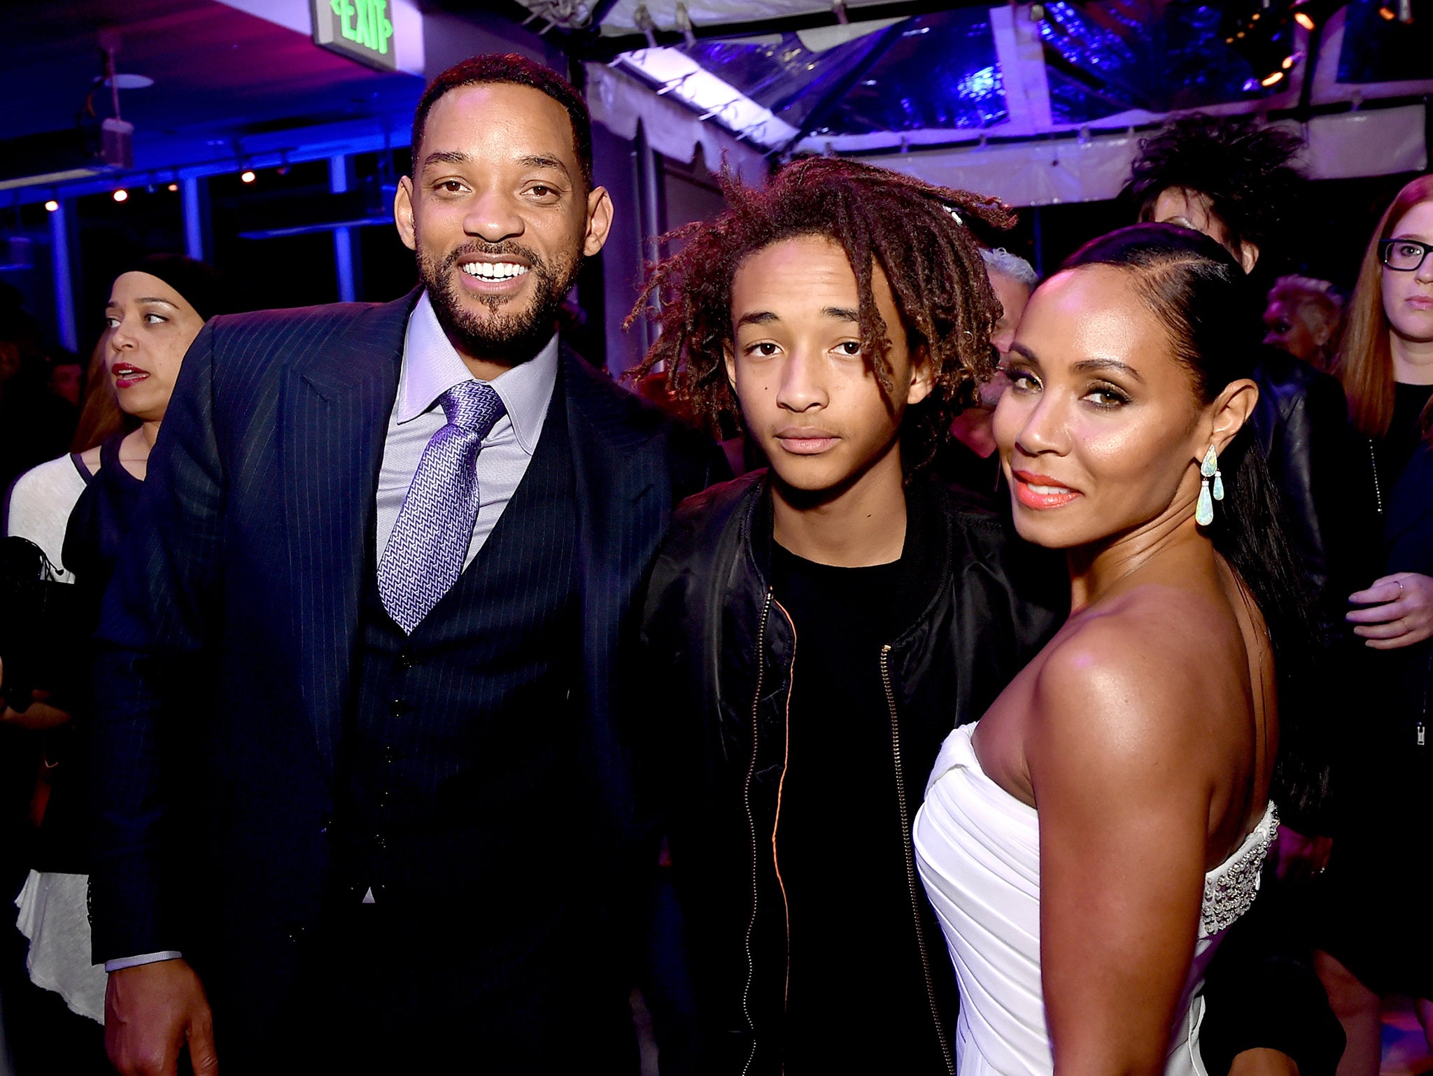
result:
[[[1202,193],[1234,246],[1250,242],[1264,255],[1284,245],[1284,221],[1304,185],[1293,165],[1303,148],[1297,135],[1247,116],[1194,112],[1141,140],[1125,192],[1141,221],[1154,219],[1169,188]]]

